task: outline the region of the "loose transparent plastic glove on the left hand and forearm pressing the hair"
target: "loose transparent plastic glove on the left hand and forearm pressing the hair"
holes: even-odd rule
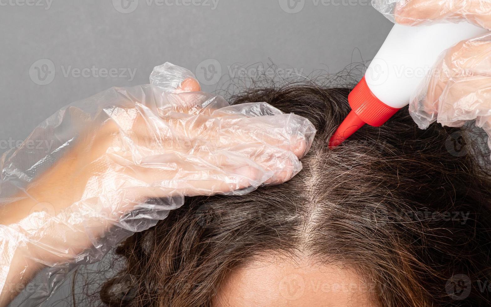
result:
[[[43,264],[47,289],[25,300],[38,306],[76,265],[155,225],[184,196],[243,195],[300,171],[315,135],[307,119],[262,102],[229,106],[170,63],[150,82],[70,104],[3,155],[3,295],[29,264]]]

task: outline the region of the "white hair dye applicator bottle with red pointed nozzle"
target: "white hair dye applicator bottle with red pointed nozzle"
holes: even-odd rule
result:
[[[330,139],[329,148],[338,146],[365,124],[382,126],[409,104],[411,94],[443,51],[487,32],[466,22],[419,27],[395,25],[365,76],[349,94],[352,111]]]

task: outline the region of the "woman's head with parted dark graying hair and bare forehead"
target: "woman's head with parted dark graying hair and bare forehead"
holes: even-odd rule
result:
[[[329,150],[349,112],[348,93],[290,84],[233,97],[266,101],[316,126],[303,170],[244,196],[188,198],[117,249],[126,266],[102,288],[102,300],[132,307],[486,305],[489,293],[478,286],[491,263],[486,170],[465,154],[470,146],[454,149],[458,129],[419,130],[407,110]]]

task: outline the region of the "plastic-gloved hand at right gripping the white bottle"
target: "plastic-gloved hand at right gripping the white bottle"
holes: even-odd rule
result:
[[[467,21],[491,29],[488,0],[374,0],[372,4],[404,25]],[[409,112],[423,129],[434,121],[460,127],[475,119],[476,126],[491,136],[491,34],[444,52],[412,96]]]

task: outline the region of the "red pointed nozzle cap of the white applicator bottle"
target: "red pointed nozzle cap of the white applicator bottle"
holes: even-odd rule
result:
[[[348,102],[352,111],[339,125],[339,128],[329,140],[329,148],[333,148],[344,142],[364,124],[379,127],[401,109],[392,108],[375,97],[365,77],[356,84],[348,96]]]

